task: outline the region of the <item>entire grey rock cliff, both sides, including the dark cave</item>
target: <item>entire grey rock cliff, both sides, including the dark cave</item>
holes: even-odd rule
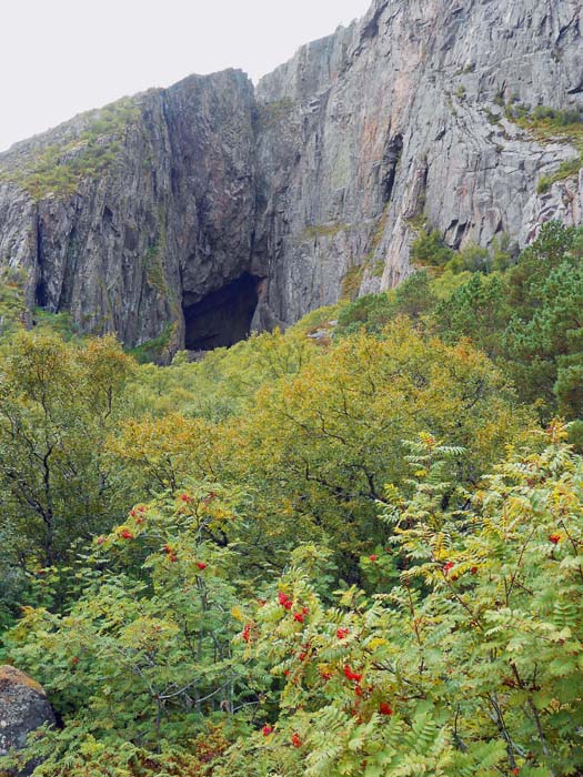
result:
[[[167,332],[171,352],[393,286],[421,214],[454,248],[581,223],[581,173],[536,193],[579,151],[537,142],[501,105],[583,105],[582,13],[580,0],[374,0],[255,92],[225,71],[138,95],[90,141],[115,149],[107,168],[34,191],[17,173],[47,148],[66,167],[87,152],[96,114],[79,117],[0,155],[0,264],[26,269],[30,305],[129,345]]]

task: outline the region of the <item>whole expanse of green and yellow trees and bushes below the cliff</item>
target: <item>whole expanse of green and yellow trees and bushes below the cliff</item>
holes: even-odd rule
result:
[[[168,367],[14,325],[1,649],[60,725],[0,768],[583,774],[580,243]]]

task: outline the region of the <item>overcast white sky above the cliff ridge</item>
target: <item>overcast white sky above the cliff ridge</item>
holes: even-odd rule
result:
[[[0,151],[189,73],[253,80],[371,0],[0,0]]]

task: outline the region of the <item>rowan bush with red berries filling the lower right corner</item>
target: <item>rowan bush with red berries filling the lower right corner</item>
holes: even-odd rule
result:
[[[279,707],[219,775],[580,774],[583,471],[562,436],[452,509],[463,452],[422,435],[411,498],[388,488],[389,545],[360,559],[375,596],[352,587],[330,606],[292,557],[250,615],[249,655],[284,685]]]

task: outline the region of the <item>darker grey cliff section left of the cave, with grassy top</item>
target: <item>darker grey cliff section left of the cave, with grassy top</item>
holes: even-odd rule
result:
[[[0,262],[27,270],[31,304],[70,311],[84,332],[135,345],[167,331],[175,350],[183,311],[250,269],[253,88],[240,71],[193,75],[132,108],[112,137],[92,129],[98,112],[0,157]],[[34,160],[56,147],[57,169],[76,154],[88,167],[88,132],[113,160],[39,196]]]

